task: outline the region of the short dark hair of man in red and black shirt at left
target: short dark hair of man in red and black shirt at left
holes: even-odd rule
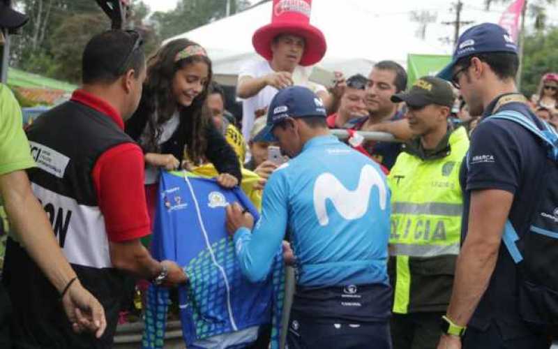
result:
[[[145,66],[142,44],[136,31],[110,30],[93,36],[82,55],[82,82],[110,84],[130,69],[138,77]]]

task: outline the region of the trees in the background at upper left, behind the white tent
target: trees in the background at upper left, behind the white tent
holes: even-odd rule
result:
[[[20,35],[12,36],[10,65],[58,80],[79,83],[84,46],[110,22],[94,0],[14,0],[29,16]],[[225,17],[225,0],[181,0],[176,9],[154,13],[143,0],[130,1],[127,27],[140,31],[147,55],[162,40]],[[231,0],[231,13],[250,6]]]

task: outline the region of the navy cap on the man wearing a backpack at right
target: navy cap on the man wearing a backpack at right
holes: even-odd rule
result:
[[[478,24],[467,29],[459,37],[450,64],[438,73],[438,77],[451,80],[453,67],[459,59],[483,52],[511,52],[518,54],[518,46],[506,29],[493,23]]]

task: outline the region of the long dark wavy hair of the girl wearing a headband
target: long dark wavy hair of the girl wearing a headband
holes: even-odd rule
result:
[[[129,134],[138,140],[144,151],[160,152],[158,140],[163,132],[163,124],[171,119],[178,107],[180,122],[176,133],[178,133],[179,147],[183,149],[187,146],[186,154],[189,160],[198,163],[202,160],[207,147],[204,130],[211,120],[211,112],[205,101],[213,71],[211,60],[204,55],[194,54],[175,61],[176,54],[192,45],[198,44],[186,38],[172,40],[149,58],[140,106],[130,119],[130,122],[135,124],[130,124],[129,128],[127,125],[126,131],[130,131]],[[207,64],[209,70],[207,84],[190,106],[177,106],[172,92],[174,74],[196,62]],[[133,120],[135,118],[136,121]]]

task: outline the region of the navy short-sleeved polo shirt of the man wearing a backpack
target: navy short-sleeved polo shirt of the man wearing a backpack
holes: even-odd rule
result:
[[[469,148],[469,168],[465,161],[460,171],[463,195],[462,241],[467,235],[471,192],[499,189],[513,193],[510,221],[522,237],[528,231],[537,184],[545,164],[543,144],[526,128],[513,121],[490,119],[496,98],[485,109],[483,120],[473,131]],[[540,121],[523,103],[507,103],[500,110],[514,110],[541,127]],[[497,202],[494,205],[498,205]],[[502,243],[495,271],[469,322],[470,327],[484,330],[491,322],[499,327],[504,340],[530,334],[517,307],[516,266]]]

